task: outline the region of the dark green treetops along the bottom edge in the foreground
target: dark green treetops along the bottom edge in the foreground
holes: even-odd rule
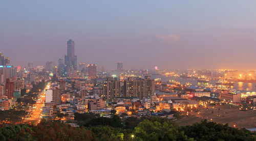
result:
[[[15,125],[0,127],[1,140],[255,140],[256,134],[227,124],[202,121],[191,126],[179,126],[163,118],[127,118],[123,122],[98,117],[91,113],[75,114],[84,122],[71,127],[60,121],[41,120],[37,126]]]

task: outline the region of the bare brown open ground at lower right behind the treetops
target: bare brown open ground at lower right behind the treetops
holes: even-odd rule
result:
[[[222,124],[228,123],[229,126],[237,128],[254,128],[256,126],[256,110],[241,111],[239,106],[229,104],[216,107],[208,106],[208,109],[200,107],[199,112],[189,111],[188,117],[186,112],[183,116],[176,121],[180,125],[192,125],[206,119]]]

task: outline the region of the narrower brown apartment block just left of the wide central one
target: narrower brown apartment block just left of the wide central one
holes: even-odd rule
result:
[[[106,78],[103,81],[103,96],[106,101],[111,101],[114,98],[122,97],[121,81],[112,77]]]

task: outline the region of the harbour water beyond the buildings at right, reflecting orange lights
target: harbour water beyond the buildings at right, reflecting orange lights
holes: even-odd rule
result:
[[[163,82],[169,81],[169,80],[175,80],[175,81],[179,81],[181,84],[185,84],[186,82],[189,82],[192,84],[192,86],[196,86],[197,85],[197,79],[188,79],[188,78],[180,78],[180,77],[173,77],[173,76],[164,76],[164,75],[152,75],[151,76],[153,79],[156,78],[161,78],[161,80]],[[218,80],[210,80],[210,84],[212,84],[212,86],[216,85],[216,82]],[[238,91],[242,91],[242,90],[248,90],[248,91],[254,91],[256,92],[256,83],[255,82],[234,82],[234,86],[232,89],[238,90]]]

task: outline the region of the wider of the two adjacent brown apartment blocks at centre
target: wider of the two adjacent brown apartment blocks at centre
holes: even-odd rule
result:
[[[138,97],[142,100],[145,97],[151,97],[155,92],[155,81],[150,76],[145,76],[145,79],[128,78],[124,80],[123,86],[124,97]]]

